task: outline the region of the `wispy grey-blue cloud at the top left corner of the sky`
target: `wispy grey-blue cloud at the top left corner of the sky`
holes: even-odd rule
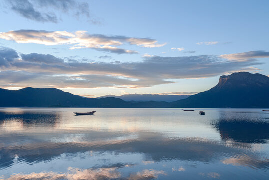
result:
[[[37,22],[58,23],[55,11],[66,13],[79,18],[84,16],[93,23],[97,20],[90,15],[89,4],[75,0],[5,0],[11,10],[20,16]]]

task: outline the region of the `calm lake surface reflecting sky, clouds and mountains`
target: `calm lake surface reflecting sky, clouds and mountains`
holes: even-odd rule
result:
[[[261,109],[0,108],[0,179],[268,177]]]

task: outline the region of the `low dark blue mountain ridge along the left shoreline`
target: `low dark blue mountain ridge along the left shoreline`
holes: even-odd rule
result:
[[[118,98],[83,98],[56,88],[0,89],[0,99],[0,107],[129,107]]]

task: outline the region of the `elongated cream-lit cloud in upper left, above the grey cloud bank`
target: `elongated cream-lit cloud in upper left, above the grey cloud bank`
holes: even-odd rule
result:
[[[158,44],[150,38],[134,38],[125,36],[106,36],[101,34],[88,34],[86,31],[44,31],[44,30],[17,30],[0,32],[0,38],[13,40],[17,43],[37,43],[44,45],[72,45],[70,49],[92,48],[117,54],[134,54],[134,50],[118,48],[124,43],[141,47],[159,47],[165,44]]]

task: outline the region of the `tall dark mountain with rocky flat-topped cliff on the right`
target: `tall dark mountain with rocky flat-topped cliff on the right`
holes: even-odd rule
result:
[[[269,77],[249,72],[223,75],[208,91],[171,103],[190,108],[269,108]]]

